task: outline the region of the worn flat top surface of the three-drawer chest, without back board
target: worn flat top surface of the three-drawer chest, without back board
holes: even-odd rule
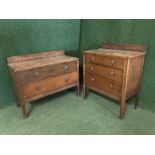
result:
[[[105,56],[112,56],[112,57],[122,57],[122,58],[132,58],[144,55],[144,52],[136,52],[136,51],[126,51],[126,50],[116,50],[116,49],[93,49],[84,51],[84,53],[90,53],[95,55],[105,55]]]

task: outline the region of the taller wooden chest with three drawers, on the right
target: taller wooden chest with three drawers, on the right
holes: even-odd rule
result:
[[[118,101],[123,118],[126,100],[136,96],[135,108],[138,105],[146,48],[107,43],[101,47],[83,54],[84,97],[91,89]]]

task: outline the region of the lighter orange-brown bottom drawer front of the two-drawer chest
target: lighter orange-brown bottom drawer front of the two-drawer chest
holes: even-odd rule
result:
[[[35,81],[33,83],[22,86],[24,98],[32,97],[44,92],[65,87],[78,81],[78,73],[72,72],[57,77],[50,77],[44,80]]]

